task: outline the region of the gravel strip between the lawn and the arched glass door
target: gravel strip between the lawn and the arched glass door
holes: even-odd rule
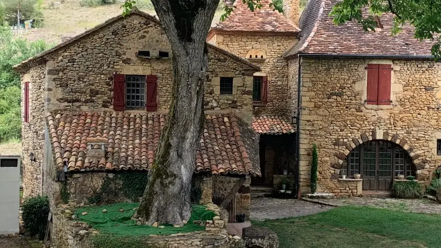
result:
[[[441,204],[430,199],[397,199],[374,197],[351,197],[318,199],[317,201],[335,206],[369,206],[389,210],[402,210],[418,213],[441,214]]]

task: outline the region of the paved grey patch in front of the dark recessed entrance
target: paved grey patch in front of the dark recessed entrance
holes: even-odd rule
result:
[[[259,197],[251,199],[252,220],[298,217],[330,210],[333,207],[296,199]]]

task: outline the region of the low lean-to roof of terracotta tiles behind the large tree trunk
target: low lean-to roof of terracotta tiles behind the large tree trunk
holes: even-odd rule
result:
[[[150,170],[166,117],[127,112],[49,113],[56,167],[61,170],[67,164],[69,172]],[[258,138],[250,133],[254,132],[234,114],[207,115],[194,171],[260,175]],[[105,158],[89,157],[88,141],[106,142]]]

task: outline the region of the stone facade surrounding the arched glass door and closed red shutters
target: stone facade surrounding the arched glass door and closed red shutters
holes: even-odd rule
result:
[[[365,104],[368,63],[393,65],[390,106]],[[339,188],[346,187],[337,178],[345,155],[372,139],[399,144],[415,164],[417,179],[427,184],[441,160],[436,154],[440,104],[441,64],[432,60],[304,58],[302,192],[309,190],[313,143],[319,153],[318,191],[342,195],[345,192]]]

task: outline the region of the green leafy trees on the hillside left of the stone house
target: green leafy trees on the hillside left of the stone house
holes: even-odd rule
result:
[[[13,38],[10,27],[0,26],[0,142],[21,137],[20,76],[12,67],[46,48],[42,40]]]

